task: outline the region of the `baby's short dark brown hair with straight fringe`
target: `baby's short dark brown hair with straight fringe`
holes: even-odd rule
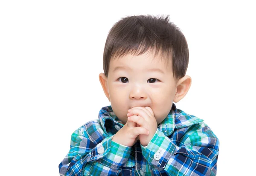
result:
[[[186,74],[189,64],[189,49],[180,29],[166,17],[137,15],[123,17],[108,33],[103,53],[103,69],[108,77],[111,59],[127,54],[141,55],[146,51],[160,52],[168,64],[172,58],[175,80]],[[138,53],[140,51],[140,53]]]

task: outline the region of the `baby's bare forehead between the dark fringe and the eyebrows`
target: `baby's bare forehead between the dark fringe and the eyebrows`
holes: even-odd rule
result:
[[[113,58],[110,61],[109,71],[117,70],[142,70],[158,71],[168,73],[172,71],[172,62],[170,58],[164,55],[154,55],[151,52],[145,52],[141,55],[127,54],[122,57]]]

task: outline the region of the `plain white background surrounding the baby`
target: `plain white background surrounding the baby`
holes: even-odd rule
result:
[[[74,130],[110,105],[99,83],[112,25],[169,14],[189,45],[176,104],[220,139],[218,176],[253,175],[255,6],[249,1],[1,1],[1,175],[58,175]],[[3,174],[5,173],[5,174]]]

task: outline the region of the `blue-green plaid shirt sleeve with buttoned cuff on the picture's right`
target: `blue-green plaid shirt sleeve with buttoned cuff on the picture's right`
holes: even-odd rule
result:
[[[171,138],[157,129],[142,154],[150,167],[170,176],[215,176],[218,138],[203,122],[178,129]]]

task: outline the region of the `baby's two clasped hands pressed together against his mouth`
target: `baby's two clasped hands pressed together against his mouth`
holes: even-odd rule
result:
[[[150,107],[133,107],[128,110],[128,120],[112,138],[116,143],[131,147],[137,140],[147,146],[157,130],[157,121]]]

